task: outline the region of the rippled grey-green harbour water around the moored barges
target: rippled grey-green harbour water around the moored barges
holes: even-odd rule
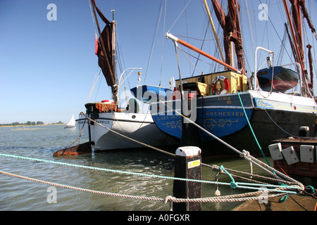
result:
[[[66,148],[77,139],[77,129],[64,129],[63,125],[38,127],[0,127],[0,153],[20,155],[42,160],[68,162],[75,165],[87,165],[107,169],[174,176],[174,161],[168,155],[154,150],[126,150],[94,155],[78,155],[73,157],[53,157],[53,153]],[[82,138],[81,143],[87,141]],[[248,171],[249,164],[242,159],[230,161],[205,162],[224,165],[232,169]],[[173,180],[151,177],[113,174],[97,170],[67,167],[44,162],[33,162],[0,156],[0,170],[35,179],[50,181],[68,186],[88,188],[97,191],[120,193],[137,196],[166,198],[173,195]],[[202,167],[202,179],[214,181],[215,173]],[[223,182],[230,182],[220,176]],[[94,193],[85,193],[66,188],[56,188],[57,203],[48,203],[50,186],[34,181],[0,175],[0,210],[169,210],[168,205],[147,200],[132,200]],[[213,184],[203,184],[202,196],[214,195]],[[241,193],[244,190],[232,190],[228,186],[220,186],[222,195]],[[204,211],[232,210],[240,203],[203,203]]]

